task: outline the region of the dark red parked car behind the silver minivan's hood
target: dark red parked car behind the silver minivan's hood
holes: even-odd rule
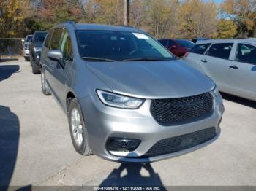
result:
[[[186,39],[159,39],[158,41],[178,57],[184,56],[195,45]]]

